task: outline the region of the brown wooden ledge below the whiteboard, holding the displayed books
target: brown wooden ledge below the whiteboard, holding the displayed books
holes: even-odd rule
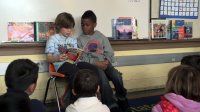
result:
[[[200,39],[189,40],[110,40],[115,51],[200,47]],[[1,43],[0,56],[44,54],[45,42]]]

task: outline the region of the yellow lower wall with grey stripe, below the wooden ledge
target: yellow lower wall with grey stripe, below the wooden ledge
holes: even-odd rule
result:
[[[198,46],[199,45],[200,44],[198,44]],[[199,54],[199,52],[200,47],[197,46],[188,48],[115,51],[115,56],[118,62],[116,68],[123,73],[122,77],[124,86],[128,92],[163,88],[167,79],[168,71],[172,67],[179,65],[183,56],[189,54]],[[4,74],[7,65],[11,61],[19,58],[29,58],[34,62],[39,63],[40,70],[37,82],[38,86],[31,97],[43,100],[46,83],[49,78],[45,54],[18,54],[10,56],[0,55],[0,94],[6,91]],[[65,80],[58,81],[60,95],[63,93],[65,84]],[[48,94],[48,100],[53,98],[55,98],[55,95],[51,86]]]

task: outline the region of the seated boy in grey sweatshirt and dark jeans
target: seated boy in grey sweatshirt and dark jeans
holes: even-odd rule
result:
[[[106,38],[99,31],[95,31],[97,18],[93,11],[86,11],[81,17],[83,33],[78,37],[78,47],[84,50],[82,61],[91,63],[98,68],[100,78],[101,101],[106,104],[111,112],[128,111],[129,105],[126,98],[126,89],[123,85],[121,73],[111,63],[114,62],[114,51]],[[113,82],[116,90],[114,99],[109,80]],[[120,109],[119,109],[120,108]]]

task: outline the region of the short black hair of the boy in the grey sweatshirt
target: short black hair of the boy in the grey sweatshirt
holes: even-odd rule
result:
[[[95,13],[92,10],[87,10],[83,13],[81,19],[90,19],[92,22],[96,23],[97,22],[97,17]]]

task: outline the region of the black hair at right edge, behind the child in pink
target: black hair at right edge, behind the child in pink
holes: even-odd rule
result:
[[[193,66],[200,71],[200,55],[188,55],[181,59],[182,65]]]

